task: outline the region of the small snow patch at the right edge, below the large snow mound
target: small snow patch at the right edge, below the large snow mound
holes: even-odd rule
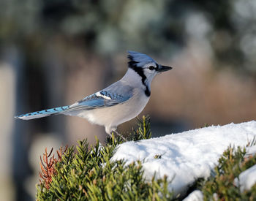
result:
[[[240,186],[240,191],[249,190],[256,183],[256,164],[241,172],[235,179],[236,186]]]

